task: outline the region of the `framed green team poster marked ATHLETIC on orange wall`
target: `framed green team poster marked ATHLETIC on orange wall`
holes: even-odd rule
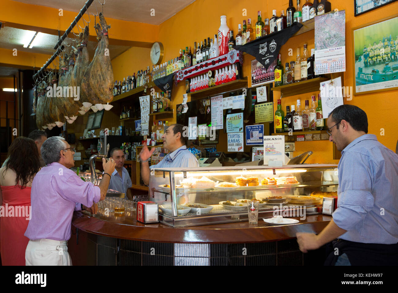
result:
[[[398,14],[352,30],[354,94],[398,88]]]

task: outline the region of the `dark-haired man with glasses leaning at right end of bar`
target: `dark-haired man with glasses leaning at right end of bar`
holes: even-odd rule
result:
[[[338,208],[320,234],[296,234],[300,250],[338,238],[326,265],[398,265],[398,155],[367,134],[366,113],[357,106],[338,106],[327,126],[341,151]]]

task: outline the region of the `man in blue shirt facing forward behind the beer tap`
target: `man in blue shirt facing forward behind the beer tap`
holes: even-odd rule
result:
[[[111,149],[110,157],[115,161],[115,171],[113,171],[111,180],[109,181],[109,189],[113,189],[119,192],[125,193],[126,197],[130,200],[133,199],[131,196],[132,183],[129,172],[123,167],[125,162],[125,156],[121,149],[114,147]]]

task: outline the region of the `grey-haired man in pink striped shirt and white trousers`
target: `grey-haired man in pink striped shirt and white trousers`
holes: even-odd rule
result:
[[[85,182],[69,168],[74,166],[74,148],[60,136],[47,139],[41,146],[46,163],[33,179],[31,220],[25,236],[26,265],[72,265],[67,241],[70,239],[74,210],[84,208],[95,214],[103,201],[115,162],[102,159],[104,175],[99,186]],[[108,175],[108,176],[107,176]]]

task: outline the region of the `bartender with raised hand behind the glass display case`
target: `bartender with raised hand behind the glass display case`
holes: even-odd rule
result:
[[[170,151],[170,153],[158,164],[149,167],[148,163],[148,159],[155,150],[154,147],[149,150],[147,146],[144,146],[140,152],[141,176],[146,185],[149,184],[150,168],[199,167],[198,160],[187,149],[188,138],[183,136],[183,125],[170,125],[163,134],[162,140],[163,147]]]

